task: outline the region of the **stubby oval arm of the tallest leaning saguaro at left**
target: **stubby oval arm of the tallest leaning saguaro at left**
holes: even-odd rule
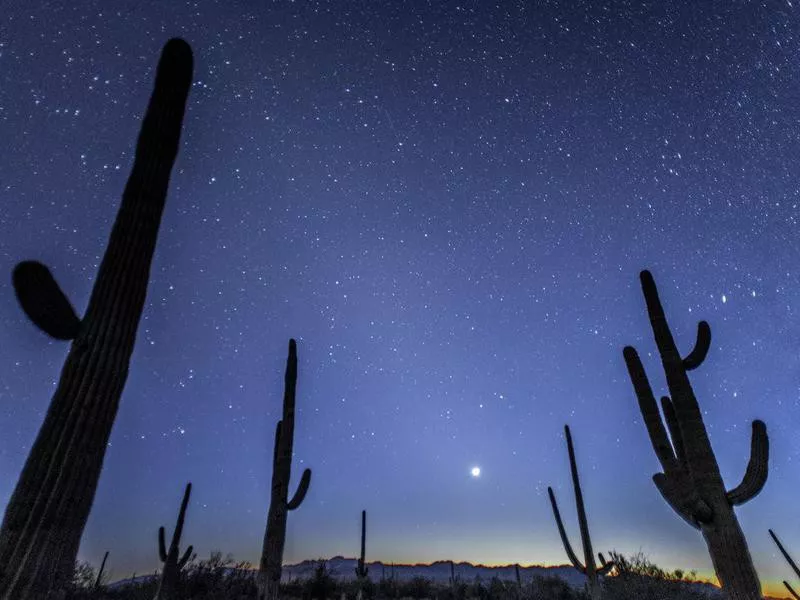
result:
[[[23,261],[14,268],[12,281],[22,310],[39,329],[57,340],[78,336],[81,320],[45,265]]]

